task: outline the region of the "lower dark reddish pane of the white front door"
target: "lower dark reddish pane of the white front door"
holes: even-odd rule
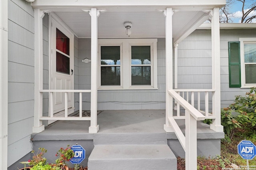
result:
[[[56,52],[56,71],[64,74],[70,74],[70,59],[69,57]]]

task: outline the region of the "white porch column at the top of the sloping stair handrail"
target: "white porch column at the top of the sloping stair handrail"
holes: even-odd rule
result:
[[[164,11],[166,16],[166,28],[165,28],[165,50],[166,50],[166,122],[164,125],[164,130],[166,132],[171,132],[172,127],[168,120],[168,117],[172,117],[172,107],[173,98],[168,94],[168,89],[172,89],[172,8],[167,8]]]

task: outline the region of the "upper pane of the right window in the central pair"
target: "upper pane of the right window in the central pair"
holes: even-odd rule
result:
[[[150,46],[132,46],[132,64],[151,64]]]

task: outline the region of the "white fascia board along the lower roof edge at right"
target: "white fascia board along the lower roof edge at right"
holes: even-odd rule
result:
[[[220,29],[254,29],[256,23],[220,23]],[[203,23],[197,29],[211,29],[211,23]]]

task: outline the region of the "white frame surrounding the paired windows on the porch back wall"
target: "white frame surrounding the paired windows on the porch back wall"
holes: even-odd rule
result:
[[[150,45],[151,85],[132,86],[131,46]],[[101,46],[120,46],[120,86],[101,86]],[[136,90],[157,88],[157,39],[98,39],[98,90]]]

